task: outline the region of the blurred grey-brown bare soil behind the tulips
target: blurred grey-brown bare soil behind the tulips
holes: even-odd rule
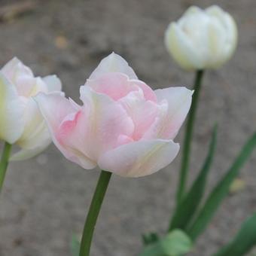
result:
[[[239,44],[233,59],[221,70],[206,72],[203,81],[190,181],[206,156],[212,126],[218,121],[218,154],[210,189],[256,128],[254,0],[0,0],[0,65],[17,56],[35,75],[55,73],[66,95],[78,100],[79,86],[114,50],[154,88],[191,88],[194,74],[175,65],[163,45],[163,34],[190,5],[213,4],[235,18]],[[176,142],[182,141],[183,132]],[[142,233],[166,230],[179,160],[145,178],[112,178],[92,256],[137,255]],[[190,255],[211,255],[255,212],[255,166],[254,152],[239,175],[239,189],[224,200]],[[72,233],[82,232],[98,175],[98,170],[85,171],[70,163],[54,145],[32,160],[11,163],[0,202],[0,255],[71,255]]]

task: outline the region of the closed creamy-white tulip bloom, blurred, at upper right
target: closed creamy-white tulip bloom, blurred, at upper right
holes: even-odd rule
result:
[[[188,8],[165,35],[167,50],[187,70],[218,69],[233,55],[236,41],[233,17],[216,5]]]

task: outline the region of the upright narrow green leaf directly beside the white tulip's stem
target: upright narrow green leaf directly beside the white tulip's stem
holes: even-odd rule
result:
[[[203,193],[206,187],[206,179],[209,173],[209,169],[212,165],[212,159],[215,153],[217,140],[217,126],[215,126],[212,131],[212,139],[209,145],[209,152],[206,157],[205,162],[203,163],[202,169],[197,175],[197,179],[194,181],[192,187],[187,192],[178,208],[175,211],[175,214],[172,217],[172,221],[169,227],[169,230],[175,228],[184,229],[187,227],[189,221],[193,218],[197,207],[200,205],[200,201],[203,197]]]

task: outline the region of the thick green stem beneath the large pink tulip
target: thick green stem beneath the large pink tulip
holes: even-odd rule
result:
[[[90,254],[90,245],[93,239],[93,231],[96,226],[99,210],[102,206],[102,201],[105,197],[105,192],[108,188],[110,178],[111,172],[106,172],[102,170],[102,172],[99,175],[96,190],[93,194],[93,200],[90,204],[90,209],[84,224],[84,232],[81,240],[79,256],[89,256]]]

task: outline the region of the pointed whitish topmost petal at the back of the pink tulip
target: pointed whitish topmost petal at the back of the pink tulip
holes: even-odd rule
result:
[[[89,79],[96,79],[100,76],[111,73],[119,72],[128,75],[130,79],[137,79],[137,76],[133,69],[128,65],[125,59],[116,53],[111,53],[106,56],[99,63],[99,66],[93,71]]]

